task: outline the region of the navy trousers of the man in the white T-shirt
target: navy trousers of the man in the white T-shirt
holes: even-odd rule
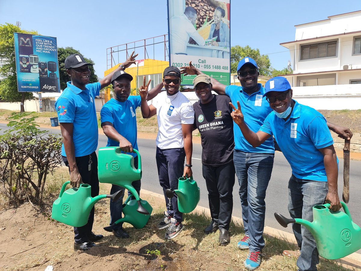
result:
[[[159,183],[163,188],[167,211],[168,214],[173,214],[173,217],[179,223],[183,221],[183,214],[178,210],[177,195],[174,194],[174,197],[169,202],[165,190],[178,189],[178,179],[183,176],[185,158],[186,152],[184,151],[184,148],[161,150],[157,147],[156,161]]]

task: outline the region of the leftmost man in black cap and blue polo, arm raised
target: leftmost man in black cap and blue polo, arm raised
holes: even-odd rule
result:
[[[134,53],[134,52],[133,52]],[[73,54],[65,59],[66,73],[71,81],[55,103],[60,123],[63,145],[61,155],[69,167],[70,185],[79,188],[81,183],[91,185],[91,196],[99,194],[98,161],[96,148],[98,145],[98,124],[95,112],[95,96],[99,90],[110,84],[114,72],[123,70],[135,63],[133,53],[122,65],[105,76],[100,82],[89,83],[90,69],[83,56]],[[92,232],[94,207],[88,223],[82,227],[74,227],[74,250],[88,250],[95,246],[95,241],[103,235]]]

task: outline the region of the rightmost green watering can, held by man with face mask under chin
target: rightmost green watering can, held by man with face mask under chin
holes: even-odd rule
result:
[[[300,218],[288,219],[277,213],[274,216],[285,228],[289,223],[304,225],[315,238],[319,255],[335,260],[361,249],[361,229],[352,222],[346,204],[341,204],[345,212],[331,211],[329,203],[313,206],[313,222]]]

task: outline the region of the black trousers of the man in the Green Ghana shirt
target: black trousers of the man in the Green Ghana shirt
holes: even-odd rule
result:
[[[208,190],[210,216],[218,228],[229,230],[233,209],[233,186],[235,169],[233,161],[218,167],[202,165],[203,177]]]

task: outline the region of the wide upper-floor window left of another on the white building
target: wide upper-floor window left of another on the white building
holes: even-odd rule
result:
[[[337,40],[301,45],[300,60],[337,55]]]

